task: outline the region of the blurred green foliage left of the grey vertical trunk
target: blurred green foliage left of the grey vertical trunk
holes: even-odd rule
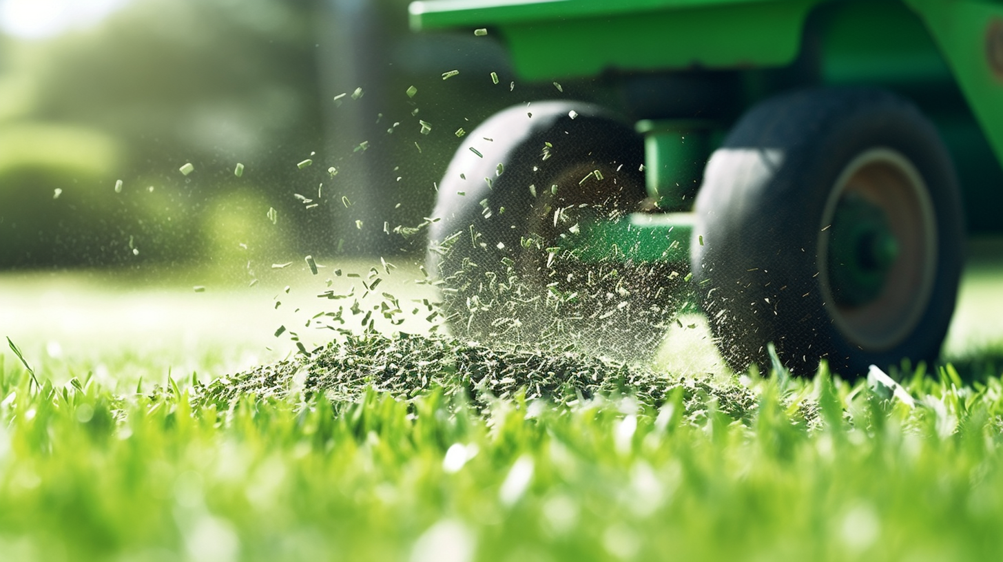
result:
[[[251,236],[249,202],[261,221],[269,200],[295,208],[281,195],[291,163],[322,138],[314,5],[134,0],[90,29],[7,41],[0,268],[237,263],[238,238],[285,247]],[[239,189],[237,162],[253,171]]]

